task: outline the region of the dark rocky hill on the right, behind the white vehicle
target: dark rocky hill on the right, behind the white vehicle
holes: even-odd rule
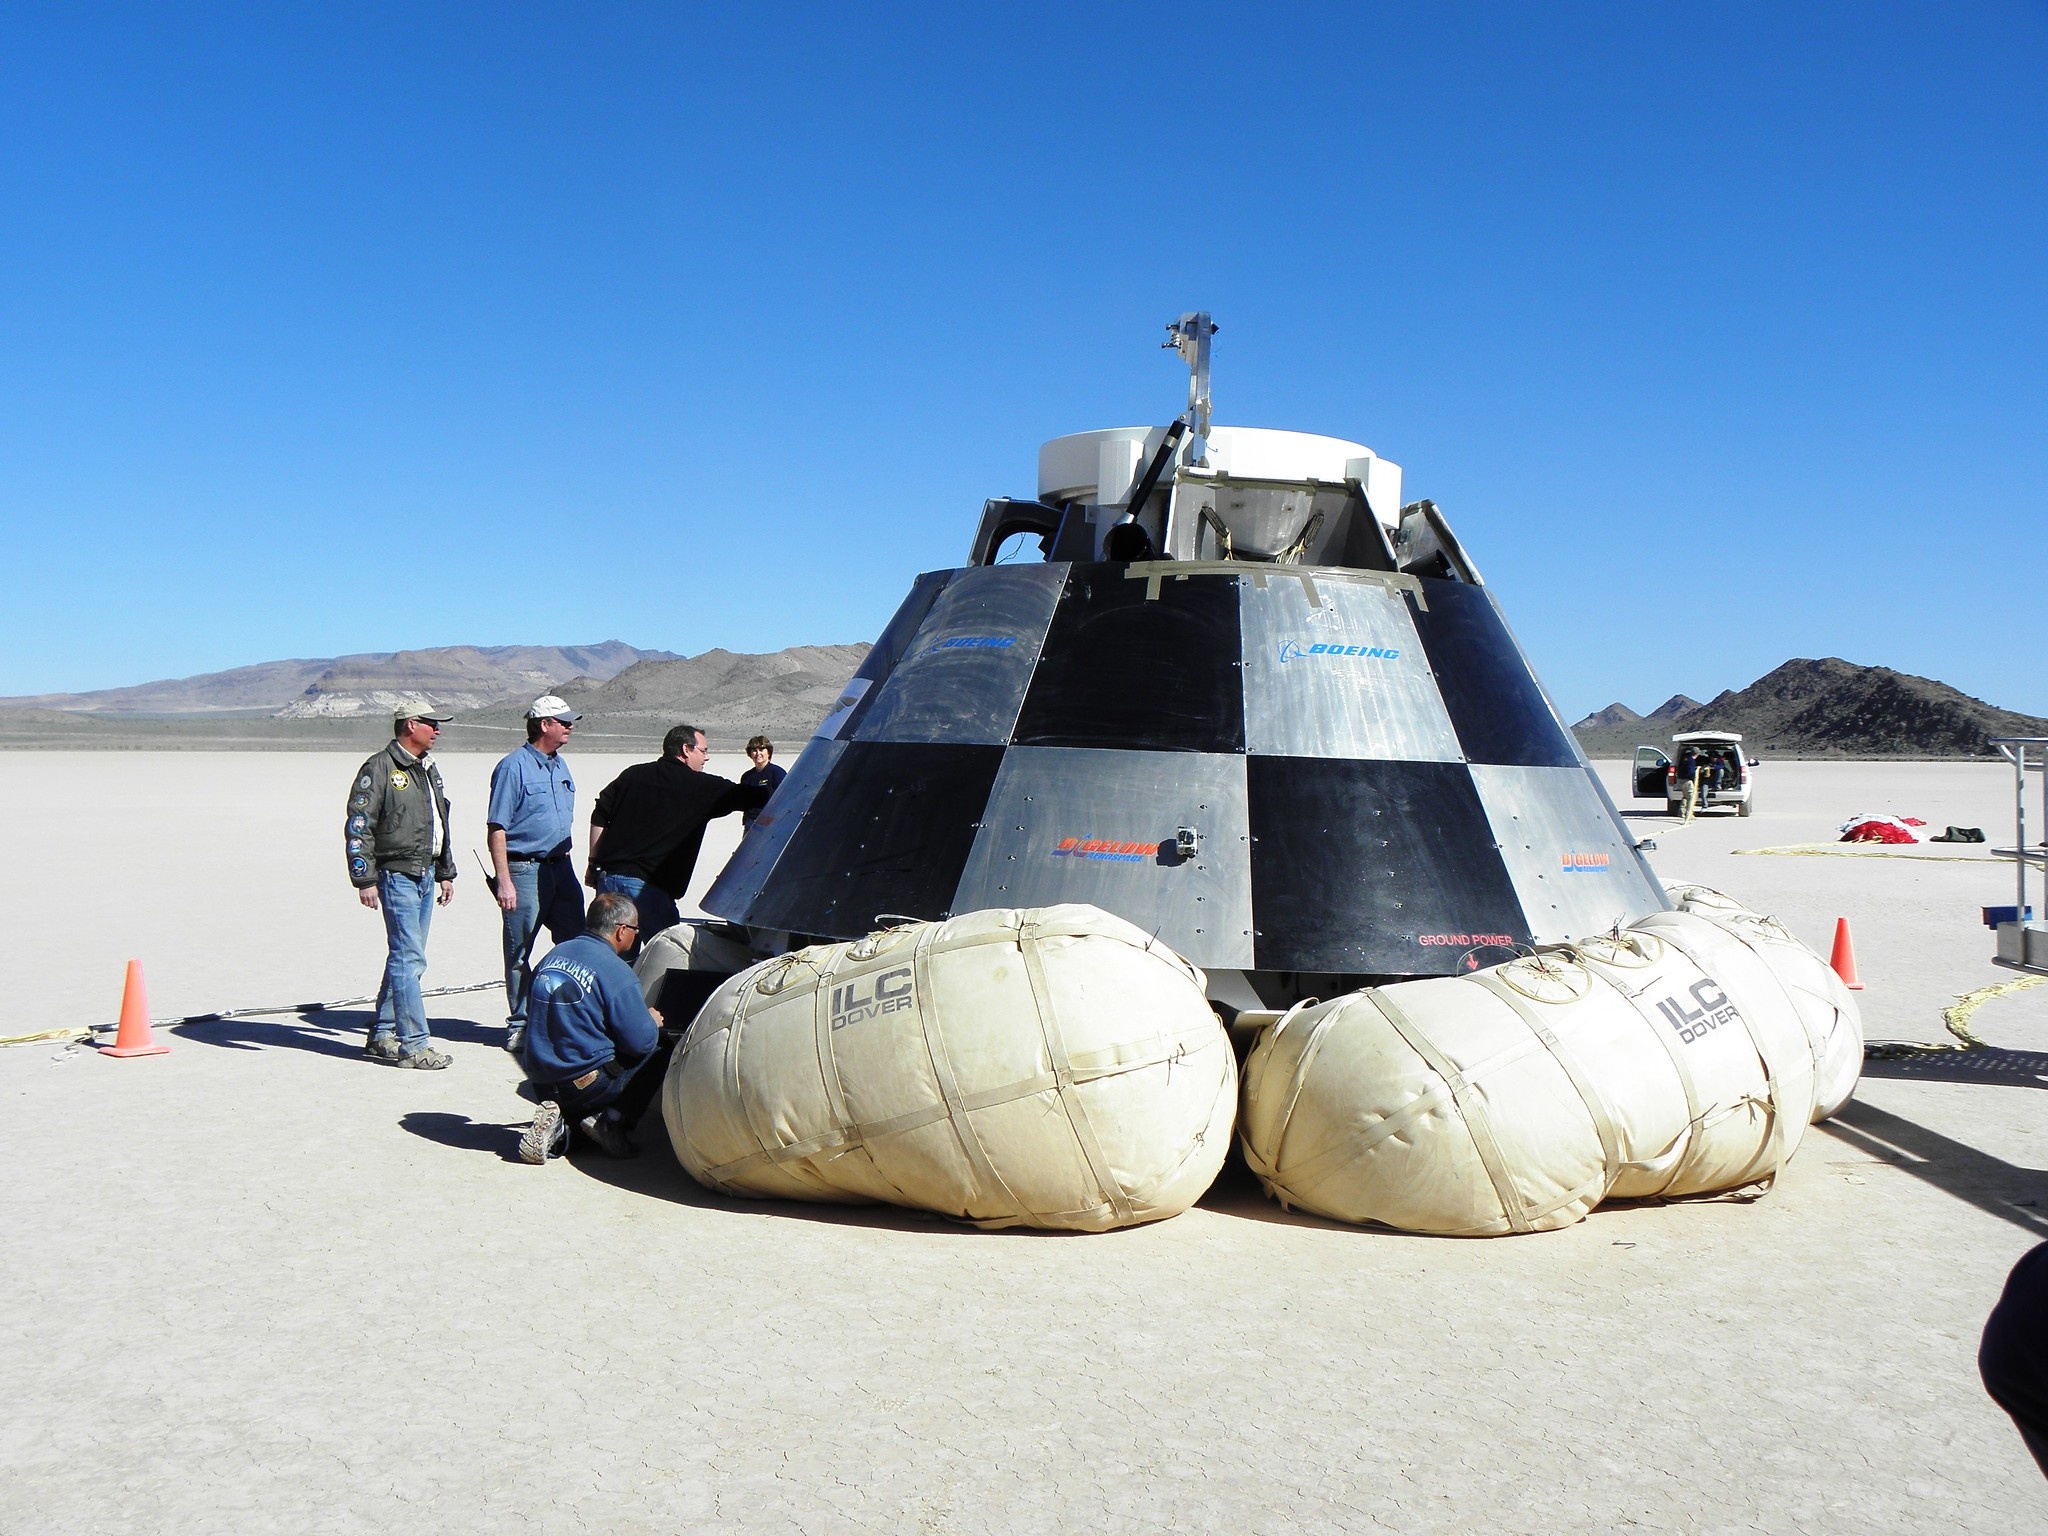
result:
[[[1671,705],[1690,705],[1665,715]],[[1890,668],[1841,657],[1786,662],[1741,690],[1704,705],[1683,694],[1636,721],[1610,719],[1610,705],[1573,727],[1589,758],[1622,758],[1636,743],[1663,745],[1675,731],[1741,731],[1751,752],[1780,758],[1970,758],[1993,735],[2048,735],[2048,719],[2015,715]]]

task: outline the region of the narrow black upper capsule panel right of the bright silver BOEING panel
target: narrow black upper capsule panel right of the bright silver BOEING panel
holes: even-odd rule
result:
[[[1577,768],[1565,727],[1507,631],[1493,596],[1468,582],[1423,582],[1415,610],[1444,709],[1470,762]]]

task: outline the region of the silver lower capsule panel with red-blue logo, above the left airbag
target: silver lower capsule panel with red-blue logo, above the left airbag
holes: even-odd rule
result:
[[[1194,827],[1192,858],[1174,852]],[[1010,748],[954,911],[1090,901],[1200,967],[1251,965],[1245,760]]]

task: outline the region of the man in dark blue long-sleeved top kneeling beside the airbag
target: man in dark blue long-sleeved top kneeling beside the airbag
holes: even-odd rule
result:
[[[569,1126],[608,1157],[639,1153],[627,1130],[662,1090],[674,1044],[662,1049],[662,1016],[621,958],[637,940],[631,897],[604,891],[590,928],[535,967],[518,1061],[541,1110],[518,1141],[522,1161],[567,1151]]]

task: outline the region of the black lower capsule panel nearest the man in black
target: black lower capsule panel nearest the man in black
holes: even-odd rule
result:
[[[883,913],[946,918],[1004,748],[852,741],[748,922],[860,938]]]

